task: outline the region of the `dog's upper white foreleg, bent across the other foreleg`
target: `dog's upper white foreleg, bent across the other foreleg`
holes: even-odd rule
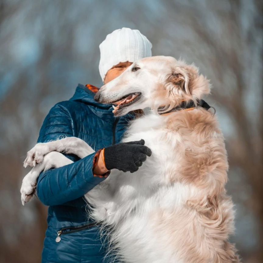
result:
[[[95,152],[86,142],[76,137],[67,137],[53,142],[37,143],[27,152],[24,167],[33,167],[37,163],[41,163],[44,156],[52,151],[73,153],[81,159]]]

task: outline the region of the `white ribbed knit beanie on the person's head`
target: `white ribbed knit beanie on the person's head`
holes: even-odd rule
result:
[[[120,62],[134,62],[152,56],[152,43],[139,30],[123,27],[106,36],[100,44],[99,71],[102,81],[108,70]]]

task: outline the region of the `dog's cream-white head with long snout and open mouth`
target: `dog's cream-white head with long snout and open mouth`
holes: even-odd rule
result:
[[[100,103],[115,103],[115,116],[129,111],[160,105],[166,110],[183,100],[201,99],[210,92],[209,81],[194,65],[173,57],[155,56],[135,61],[119,77],[100,88],[94,99]]]

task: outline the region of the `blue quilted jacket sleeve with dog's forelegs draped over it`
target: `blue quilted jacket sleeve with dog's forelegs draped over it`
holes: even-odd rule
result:
[[[37,142],[50,142],[74,136],[72,119],[67,107],[56,104],[49,112],[40,129]],[[42,172],[37,181],[37,195],[44,205],[62,205],[85,195],[89,190],[105,180],[94,177],[92,153],[79,160],[77,156],[66,155],[74,161],[69,165]]]

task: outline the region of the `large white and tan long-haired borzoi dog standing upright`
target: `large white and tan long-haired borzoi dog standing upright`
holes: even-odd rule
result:
[[[143,138],[152,155],[132,174],[113,169],[85,195],[122,262],[239,262],[228,241],[234,212],[225,189],[224,137],[202,100],[209,93],[194,65],[165,56],[134,62],[96,93],[100,103],[121,101],[115,116],[150,108],[130,123],[122,142]],[[23,180],[22,202],[42,170],[72,163],[62,151],[80,158],[94,152],[75,137],[37,144],[25,160],[36,166]]]

